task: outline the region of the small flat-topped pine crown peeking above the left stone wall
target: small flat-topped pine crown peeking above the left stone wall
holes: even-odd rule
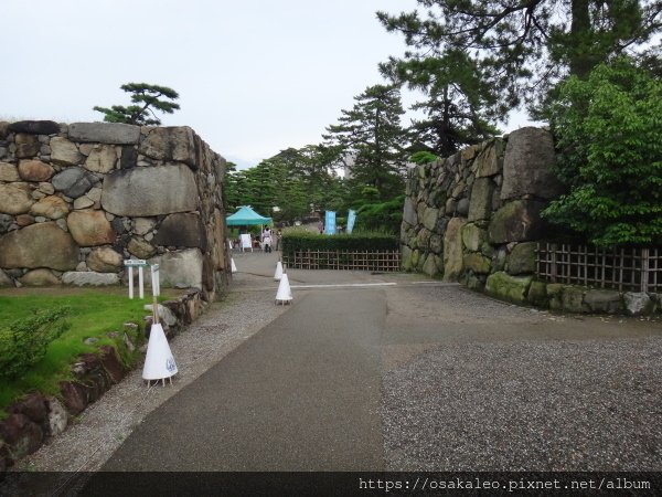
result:
[[[110,108],[95,106],[94,110],[104,114],[106,123],[125,123],[139,126],[159,126],[161,120],[154,110],[172,114],[179,109],[179,94],[168,86],[150,85],[147,83],[128,83],[120,86],[131,94],[132,105],[114,105]]]

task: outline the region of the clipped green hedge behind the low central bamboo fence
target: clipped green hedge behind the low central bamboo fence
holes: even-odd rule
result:
[[[293,256],[296,251],[395,251],[396,236],[384,233],[353,233],[320,235],[303,230],[292,230],[282,234],[282,255]]]

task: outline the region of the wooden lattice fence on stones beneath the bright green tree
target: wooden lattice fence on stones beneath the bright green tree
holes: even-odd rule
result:
[[[538,243],[537,276],[549,283],[662,292],[662,248],[602,250]]]

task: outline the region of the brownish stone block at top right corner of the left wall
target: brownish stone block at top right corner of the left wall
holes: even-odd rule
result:
[[[152,159],[173,160],[197,167],[194,133],[189,127],[152,128],[140,144],[139,151]]]

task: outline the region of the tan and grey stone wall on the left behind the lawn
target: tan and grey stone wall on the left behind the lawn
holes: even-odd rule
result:
[[[225,160],[191,128],[0,123],[0,286],[113,285],[126,258],[163,286],[227,286]]]

